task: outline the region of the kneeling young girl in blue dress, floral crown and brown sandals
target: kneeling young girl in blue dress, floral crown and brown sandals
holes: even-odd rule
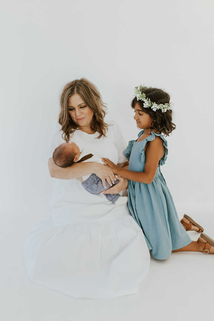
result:
[[[119,168],[107,158],[105,166],[115,174],[129,179],[129,210],[143,230],[152,256],[167,259],[171,252],[195,251],[214,254],[214,240],[201,233],[192,241],[187,230],[203,232],[203,228],[187,215],[179,221],[175,204],[160,172],[167,158],[167,141],[163,137],[175,129],[172,104],[168,93],[157,88],[135,87],[131,107],[141,130],[138,139],[129,142],[124,155],[129,165]],[[106,191],[102,192],[103,194]]]

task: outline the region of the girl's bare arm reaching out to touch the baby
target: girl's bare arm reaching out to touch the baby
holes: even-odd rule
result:
[[[163,148],[163,141],[159,137],[156,137],[153,141],[147,143],[146,163],[143,172],[134,172],[120,168],[106,158],[103,158],[102,160],[106,163],[105,166],[112,169],[115,174],[135,182],[151,184],[157,171],[159,159],[163,156]]]

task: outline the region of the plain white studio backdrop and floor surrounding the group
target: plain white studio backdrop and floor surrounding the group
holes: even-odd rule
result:
[[[214,238],[213,1],[12,0],[1,9],[3,319],[210,318],[211,294],[205,309],[195,307],[204,289],[211,290],[212,256],[151,258],[138,294],[92,304],[31,284],[21,250],[30,228],[49,215],[50,127],[64,84],[81,77],[96,84],[127,142],[139,132],[130,108],[134,87],[142,82],[171,94],[176,130],[161,171],[179,217],[190,213]],[[201,274],[204,267],[209,273]]]

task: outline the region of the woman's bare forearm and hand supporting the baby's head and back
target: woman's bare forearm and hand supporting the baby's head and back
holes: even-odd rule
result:
[[[63,168],[57,166],[53,158],[50,158],[48,160],[48,169],[50,176],[58,179],[73,179],[94,173],[102,180],[104,188],[106,187],[106,180],[109,185],[115,181],[113,171],[96,162],[74,163],[72,166]]]

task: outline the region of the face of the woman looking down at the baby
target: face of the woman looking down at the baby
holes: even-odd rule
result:
[[[82,100],[79,94],[68,98],[68,113],[74,123],[81,129],[91,124],[94,112]]]

